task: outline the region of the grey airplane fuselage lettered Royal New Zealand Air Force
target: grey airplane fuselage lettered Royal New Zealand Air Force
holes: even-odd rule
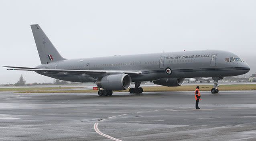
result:
[[[162,78],[190,77],[227,77],[247,73],[250,68],[246,62],[227,62],[225,58],[238,58],[236,54],[221,50],[199,50],[166,52],[154,54],[137,54],[125,56],[109,56],[97,58],[66,59],[49,64],[41,64],[37,68],[67,70],[122,70],[141,71],[141,75],[132,81],[154,81]],[[171,74],[166,69],[171,69]],[[95,82],[89,76],[72,74],[43,74],[55,79],[73,82]]]

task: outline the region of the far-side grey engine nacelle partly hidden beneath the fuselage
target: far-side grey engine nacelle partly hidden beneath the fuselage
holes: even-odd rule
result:
[[[154,84],[167,86],[167,87],[177,87],[181,86],[184,83],[185,78],[180,79],[159,79],[156,81],[153,81]]]

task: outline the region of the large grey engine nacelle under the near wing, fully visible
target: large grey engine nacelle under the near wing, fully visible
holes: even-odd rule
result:
[[[132,84],[132,79],[126,74],[107,75],[98,79],[97,86],[108,90],[126,90]]]

